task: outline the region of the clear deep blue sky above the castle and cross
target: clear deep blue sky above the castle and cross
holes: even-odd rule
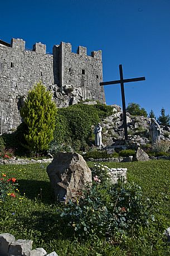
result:
[[[145,76],[125,84],[125,99],[158,117],[170,114],[170,0],[1,1],[0,39],[12,37],[47,45],[70,42],[103,51],[104,81]],[[105,86],[106,103],[122,106],[120,86]]]

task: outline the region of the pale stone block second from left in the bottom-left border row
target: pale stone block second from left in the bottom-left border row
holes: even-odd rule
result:
[[[32,240],[22,240],[17,241],[9,245],[8,256],[30,256],[30,251],[32,249]]]

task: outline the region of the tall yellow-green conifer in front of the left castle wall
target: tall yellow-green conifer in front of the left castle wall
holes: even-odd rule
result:
[[[20,112],[27,126],[25,139],[28,148],[37,154],[48,149],[55,130],[57,107],[41,82],[28,93]]]

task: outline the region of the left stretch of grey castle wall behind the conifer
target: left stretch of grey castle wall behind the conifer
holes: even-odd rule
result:
[[[33,84],[42,80],[48,87],[54,83],[53,56],[38,50],[25,50],[25,41],[12,40],[11,47],[0,45],[0,111],[2,132],[21,123],[20,107]]]

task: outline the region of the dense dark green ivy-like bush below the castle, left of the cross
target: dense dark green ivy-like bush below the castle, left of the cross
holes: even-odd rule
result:
[[[56,116],[54,143],[58,146],[70,145],[74,150],[84,151],[87,145],[94,143],[92,126],[101,118],[112,113],[112,107],[104,104],[77,104],[59,108]]]

